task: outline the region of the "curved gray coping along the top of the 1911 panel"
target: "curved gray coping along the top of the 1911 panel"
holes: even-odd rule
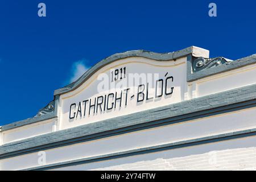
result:
[[[106,57],[105,59],[95,64],[92,68],[90,68],[87,72],[85,72],[84,75],[78,78],[75,82],[72,82],[71,84],[63,88],[55,90],[54,95],[64,94],[67,92],[71,92],[72,90],[75,90],[82,83],[88,80],[88,78],[92,76],[96,71],[98,71],[98,69],[104,67],[105,65],[113,63],[114,61],[117,61],[119,59],[124,59],[126,57],[146,57],[148,59],[154,59],[157,61],[168,61],[168,60],[175,60],[179,57],[185,57],[192,53],[193,53],[193,46],[182,49],[180,51],[169,52],[169,53],[155,53],[155,52],[144,51],[144,50],[115,53],[114,55]]]

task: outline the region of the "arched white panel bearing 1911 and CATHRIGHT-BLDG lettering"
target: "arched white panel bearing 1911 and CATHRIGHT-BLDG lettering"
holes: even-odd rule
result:
[[[89,80],[85,81],[79,88],[76,90],[63,94],[60,96],[60,129],[67,129],[70,127],[75,127],[79,125],[85,125],[92,122],[102,121],[104,119],[114,118],[121,115],[137,113],[138,111],[148,110],[155,107],[160,107],[164,105],[174,104],[176,102],[184,101],[184,92],[186,87],[186,71],[187,71],[187,58],[183,57],[181,59],[177,59],[176,61],[155,61],[151,59],[146,59],[143,57],[129,57],[126,59],[115,61],[109,65],[106,65],[104,68],[99,69]],[[108,90],[108,92],[99,92],[98,85],[101,83],[101,80],[97,80],[98,75],[101,73],[105,73],[106,75],[111,77],[112,69],[120,69],[122,67],[126,67],[126,79],[122,79],[122,81],[116,81],[117,86]],[[144,75],[148,78],[148,76],[152,76],[152,81],[155,83],[155,80],[159,78],[165,78],[168,76],[173,76],[174,81],[168,82],[168,87],[174,86],[173,94],[169,96],[163,96],[160,98],[154,98],[153,100],[137,103],[137,93],[138,93],[138,85],[139,83],[130,84],[129,74],[138,74]],[[158,75],[158,77],[154,78],[154,75]],[[165,76],[167,74],[167,76]],[[137,76],[138,77],[138,76]],[[146,82],[150,82],[151,80],[144,80],[142,84],[146,84]],[[106,93],[118,92],[122,89],[118,88],[118,85],[123,84],[122,89],[131,88],[128,94],[127,106],[122,106],[121,108],[117,106],[116,109],[110,111],[98,112],[97,114],[85,115],[82,117],[76,117],[75,119],[69,119],[69,110],[71,104],[76,103],[76,109],[78,107],[79,102],[82,102],[88,98],[94,98],[97,96],[104,96]],[[148,97],[154,96],[155,87],[152,85],[149,86],[150,91]],[[135,94],[133,98],[131,96]],[[145,97],[146,97],[146,89],[145,89]],[[94,102],[94,101],[93,101]],[[122,98],[122,104],[125,102],[125,96]],[[82,113],[84,113],[84,104],[82,104]],[[88,110],[88,104],[87,104]],[[75,112],[75,109],[72,109],[72,115]]]

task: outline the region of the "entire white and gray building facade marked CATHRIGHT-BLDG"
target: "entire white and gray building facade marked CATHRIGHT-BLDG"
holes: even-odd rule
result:
[[[0,132],[1,170],[255,170],[256,55],[117,53]]]

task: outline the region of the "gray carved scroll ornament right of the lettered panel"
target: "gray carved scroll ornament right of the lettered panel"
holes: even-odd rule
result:
[[[218,65],[230,63],[232,60],[226,59],[224,57],[215,57],[215,58],[204,58],[198,57],[193,60],[192,68],[193,72],[201,71],[205,68],[217,67]]]

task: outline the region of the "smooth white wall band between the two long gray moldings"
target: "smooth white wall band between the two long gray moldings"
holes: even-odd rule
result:
[[[116,137],[53,148],[44,151],[46,152],[46,164],[251,129],[256,126],[255,118],[256,108],[246,109],[155,129],[118,135]],[[34,152],[14,158],[2,159],[0,160],[0,167],[2,170],[36,167],[40,166],[38,159],[38,152]]]

